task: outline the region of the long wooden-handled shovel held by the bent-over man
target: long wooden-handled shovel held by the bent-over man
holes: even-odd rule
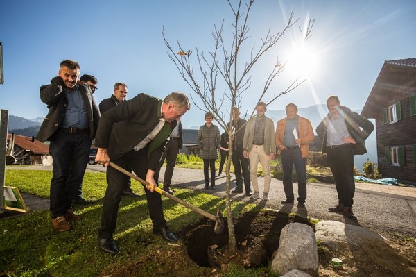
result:
[[[131,172],[123,169],[123,167],[119,167],[119,165],[114,164],[114,162],[110,162],[110,167],[117,169],[118,171],[122,172],[123,174],[129,176],[130,178],[135,179],[136,181],[139,181],[143,185],[150,185],[148,182],[144,181],[143,179],[139,178],[139,176],[136,176],[135,174],[132,174]],[[180,203],[181,205],[184,205],[185,207],[193,210],[194,212],[197,212],[198,214],[207,217],[208,219],[211,219],[212,221],[215,221],[214,226],[214,233],[217,235],[220,233],[223,233],[224,230],[224,221],[223,221],[223,215],[220,212],[220,209],[217,208],[216,216],[211,215],[209,212],[205,212],[205,210],[201,210],[200,208],[196,208],[195,206],[183,201],[182,199],[177,198],[176,196],[173,196],[171,194],[168,194],[168,192],[165,192],[164,190],[161,190],[159,187],[155,187],[155,192],[158,192],[159,194],[162,194],[169,199]]]

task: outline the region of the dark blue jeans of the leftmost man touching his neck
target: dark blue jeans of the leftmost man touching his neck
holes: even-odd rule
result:
[[[83,183],[91,139],[84,133],[71,134],[58,129],[51,136],[50,141],[53,176],[49,210],[52,218],[55,218],[71,209],[78,185]]]

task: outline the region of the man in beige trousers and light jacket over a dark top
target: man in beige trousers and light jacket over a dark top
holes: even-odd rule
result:
[[[268,192],[272,176],[270,174],[270,160],[275,159],[275,124],[266,117],[266,103],[259,102],[256,106],[257,117],[248,121],[243,139],[243,156],[250,160],[250,178],[254,187],[252,199],[259,198],[259,183],[257,181],[257,167],[259,160],[264,174],[263,200],[269,201]]]

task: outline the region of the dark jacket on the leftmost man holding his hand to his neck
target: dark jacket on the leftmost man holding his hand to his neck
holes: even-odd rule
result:
[[[98,128],[100,112],[89,86],[81,83],[78,83],[78,86],[85,101],[85,106],[87,106],[89,137],[94,139],[96,129]],[[40,87],[40,100],[48,105],[49,109],[48,115],[46,115],[42,122],[42,126],[40,126],[39,132],[36,135],[36,139],[40,142],[49,140],[49,137],[58,130],[64,119],[68,99],[63,92],[62,86],[57,85],[56,83],[42,85],[42,87]]]

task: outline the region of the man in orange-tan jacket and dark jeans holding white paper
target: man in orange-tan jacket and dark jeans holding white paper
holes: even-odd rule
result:
[[[315,136],[311,121],[297,115],[297,106],[293,103],[286,106],[284,119],[277,122],[276,145],[277,154],[281,155],[281,167],[283,169],[283,187],[286,200],[282,204],[293,203],[292,170],[295,165],[297,176],[297,207],[304,207],[306,200],[306,157],[309,156],[309,142],[313,142]]]

